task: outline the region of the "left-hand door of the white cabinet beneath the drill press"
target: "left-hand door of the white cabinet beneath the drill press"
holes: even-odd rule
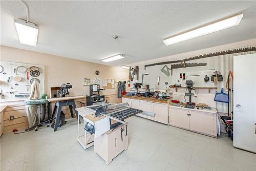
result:
[[[169,121],[170,125],[183,127],[189,129],[189,111],[183,109],[176,109],[169,107]]]

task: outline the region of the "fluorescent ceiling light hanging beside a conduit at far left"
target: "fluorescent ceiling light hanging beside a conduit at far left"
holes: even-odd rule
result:
[[[15,19],[14,24],[20,44],[36,47],[38,27],[34,23],[27,23],[23,19]]]

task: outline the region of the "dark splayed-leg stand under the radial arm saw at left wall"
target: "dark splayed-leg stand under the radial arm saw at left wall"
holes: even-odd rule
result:
[[[52,113],[52,119],[53,119],[53,117],[55,116],[55,112],[57,111],[56,117],[55,117],[54,129],[53,129],[54,132],[57,130],[58,125],[56,123],[59,123],[60,112],[61,112],[61,108],[63,106],[69,106],[71,117],[74,118],[73,109],[72,109],[72,106],[73,106],[74,109],[76,109],[76,104],[75,104],[75,100],[74,99],[72,99],[72,100],[63,100],[63,101],[56,101],[54,109],[53,109],[53,113]],[[78,113],[77,113],[76,110],[75,110],[75,113],[76,113],[76,118],[78,118]]]

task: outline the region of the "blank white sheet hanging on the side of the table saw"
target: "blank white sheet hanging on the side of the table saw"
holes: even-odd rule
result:
[[[110,118],[104,117],[94,122],[95,138],[110,131]]]

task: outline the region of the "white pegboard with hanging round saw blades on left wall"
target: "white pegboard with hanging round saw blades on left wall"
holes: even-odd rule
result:
[[[10,61],[0,61],[0,65],[3,67],[3,71],[0,67],[0,72],[2,71],[0,73],[0,93],[2,90],[4,95],[4,98],[0,95],[1,101],[15,101],[28,98],[31,93],[31,79],[33,78],[37,78],[40,81],[40,94],[45,93],[45,66]],[[37,70],[37,68],[39,69],[39,75],[36,75],[38,72],[34,72],[34,76],[32,76],[33,72],[31,72],[31,75],[30,71],[33,69]]]

